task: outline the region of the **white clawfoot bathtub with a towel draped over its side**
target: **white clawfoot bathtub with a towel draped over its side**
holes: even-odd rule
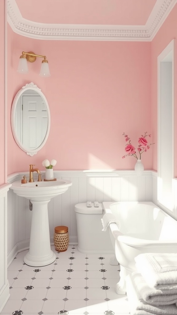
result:
[[[104,212],[120,222],[109,225],[109,234],[120,263],[117,294],[125,294],[125,277],[136,270],[141,253],[177,253],[177,221],[152,202],[103,202]]]

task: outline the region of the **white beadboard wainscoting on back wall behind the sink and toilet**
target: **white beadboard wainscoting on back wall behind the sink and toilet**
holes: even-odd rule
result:
[[[44,178],[44,172],[42,179]],[[8,181],[29,177],[28,172],[8,176]],[[34,180],[37,180],[34,174]],[[51,199],[48,204],[51,244],[54,227],[68,226],[72,244],[77,244],[77,226],[74,206],[86,201],[152,201],[152,171],[144,171],[135,176],[133,170],[104,171],[54,171],[57,179],[71,180],[68,191]],[[32,211],[29,200],[18,197],[10,189],[8,192],[8,265],[18,251],[29,248]]]

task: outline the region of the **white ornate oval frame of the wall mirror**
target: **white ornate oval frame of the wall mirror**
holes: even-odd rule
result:
[[[46,105],[47,108],[47,113],[48,113],[48,125],[47,125],[47,131],[46,131],[46,135],[43,139],[43,142],[41,143],[40,146],[38,146],[37,148],[35,148],[34,150],[28,150],[27,148],[25,148],[20,141],[17,138],[17,134],[16,134],[16,130],[15,130],[15,126],[14,126],[14,121],[15,121],[15,111],[17,108],[17,102],[19,100],[19,98],[21,97],[21,95],[24,92],[27,92],[28,90],[33,90],[34,92],[38,93],[44,100],[44,103]],[[50,110],[49,110],[49,104],[48,101],[45,97],[45,95],[41,92],[41,89],[39,89],[37,87],[37,85],[35,85],[33,82],[31,83],[27,83],[25,86],[23,86],[20,91],[17,92],[17,94],[14,97],[13,100],[13,104],[12,104],[12,109],[11,109],[11,128],[12,128],[12,133],[14,136],[14,140],[16,141],[17,145],[24,151],[26,152],[26,154],[33,156],[35,154],[37,154],[37,152],[44,146],[44,144],[46,143],[48,136],[49,136],[49,131],[50,131]]]

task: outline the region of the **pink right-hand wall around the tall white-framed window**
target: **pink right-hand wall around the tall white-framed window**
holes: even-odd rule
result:
[[[158,31],[157,35],[154,37],[152,44],[152,134],[153,140],[157,143],[157,57],[163,51],[163,49],[172,41],[172,39],[177,37],[177,4],[174,9],[168,15],[167,19],[163,23],[162,27]],[[177,52],[175,49],[175,78],[177,77]],[[176,117],[176,80],[174,82],[174,110],[175,110],[175,131],[176,135],[176,126],[177,126],[177,117]],[[153,146],[153,163],[152,168],[157,170],[157,146]],[[176,145],[176,136],[175,136],[175,177],[177,176],[177,145]]]

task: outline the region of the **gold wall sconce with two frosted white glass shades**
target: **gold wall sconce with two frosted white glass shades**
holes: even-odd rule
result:
[[[39,75],[41,77],[50,77],[49,64],[46,56],[36,55],[32,51],[30,51],[29,53],[25,53],[24,51],[22,51],[17,71],[19,73],[28,73],[29,71],[27,61],[34,62],[36,60],[36,57],[44,58]]]

